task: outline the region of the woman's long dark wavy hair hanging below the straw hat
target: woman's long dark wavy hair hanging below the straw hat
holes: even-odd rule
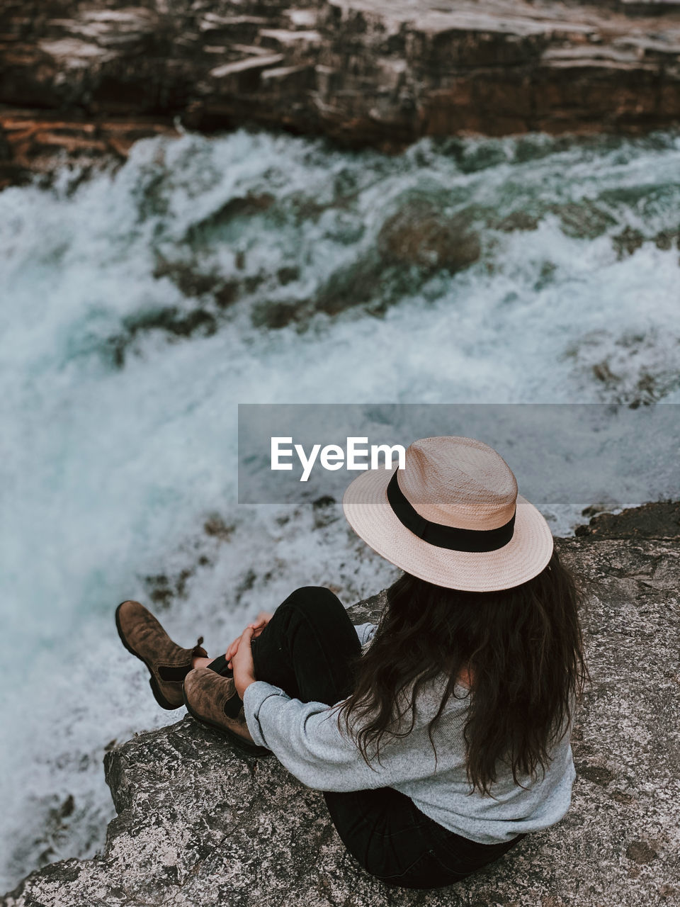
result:
[[[469,672],[463,736],[472,789],[491,793],[500,759],[510,762],[516,784],[520,775],[535,778],[538,766],[545,771],[588,679],[581,598],[557,551],[538,576],[508,590],[462,592],[404,573],[387,590],[374,639],[353,665],[354,692],[339,706],[366,763],[369,746],[379,759],[385,734],[413,730],[419,692],[442,675],[442,702],[428,726],[436,765],[432,729]],[[409,710],[411,727],[400,732]],[[352,715],[370,717],[356,733]]]

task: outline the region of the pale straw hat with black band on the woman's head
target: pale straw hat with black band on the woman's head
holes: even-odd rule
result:
[[[343,498],[354,531],[387,561],[448,589],[510,589],[552,555],[549,525],[508,463],[472,438],[414,441],[404,469],[362,473]]]

